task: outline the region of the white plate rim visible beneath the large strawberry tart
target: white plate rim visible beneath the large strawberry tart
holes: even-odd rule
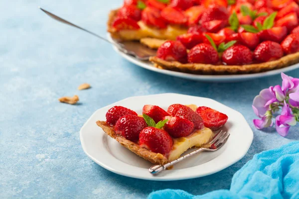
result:
[[[107,37],[110,41],[112,41],[112,38],[110,34],[107,34]],[[251,79],[256,78],[262,78],[262,77],[268,77],[272,75],[277,75],[280,73],[285,73],[288,71],[293,71],[295,69],[299,68],[299,63],[294,64],[292,66],[288,66],[286,68],[272,70],[272,71],[266,71],[262,73],[254,73],[254,74],[242,74],[242,75],[195,75],[195,74],[189,74],[189,73],[182,73],[182,72],[176,72],[176,71],[170,71],[170,70],[163,70],[153,67],[152,63],[149,61],[140,61],[136,59],[135,57],[132,57],[130,55],[127,55],[121,51],[119,51],[115,46],[113,46],[114,50],[119,53],[122,57],[124,57],[129,62],[132,62],[133,64],[136,64],[137,66],[140,66],[142,68],[148,69],[150,71],[155,71],[158,73],[162,73],[165,75],[170,75],[174,77],[184,78],[184,79],[190,79],[195,81],[201,81],[201,82],[241,82],[241,81],[247,81]]]

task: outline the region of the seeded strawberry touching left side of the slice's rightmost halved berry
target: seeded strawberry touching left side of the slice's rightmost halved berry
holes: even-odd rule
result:
[[[194,123],[195,129],[202,129],[203,123],[201,117],[190,107],[182,104],[172,104],[168,107],[167,112],[173,117],[188,119]]]

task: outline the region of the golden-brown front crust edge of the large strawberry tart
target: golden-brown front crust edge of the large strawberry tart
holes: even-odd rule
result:
[[[193,74],[209,74],[209,75],[229,75],[229,74],[249,74],[271,71],[280,69],[299,63],[299,52],[286,55],[278,60],[248,64],[242,66],[233,65],[211,65],[211,64],[182,64],[176,61],[165,61],[157,57],[150,57],[149,61],[154,67],[171,71],[179,71]]]

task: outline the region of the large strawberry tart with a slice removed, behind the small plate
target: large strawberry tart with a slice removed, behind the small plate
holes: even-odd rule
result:
[[[157,48],[157,68],[259,73],[299,62],[298,17],[297,0],[125,0],[108,31]]]

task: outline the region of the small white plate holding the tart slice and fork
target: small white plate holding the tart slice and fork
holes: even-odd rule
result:
[[[228,121],[223,127],[223,130],[230,133],[227,143],[218,151],[197,154],[178,163],[171,170],[152,176],[149,173],[149,167],[152,166],[150,162],[123,147],[96,125],[97,120],[106,120],[106,112],[115,105],[128,107],[141,114],[145,104],[154,104],[167,109],[173,103],[209,106],[227,114]],[[253,132],[244,116],[238,111],[215,100],[180,94],[139,96],[118,101],[98,109],[80,130],[82,148],[97,164],[123,176],[154,181],[191,179],[221,171],[239,161],[247,153],[252,139]],[[194,149],[188,151],[190,150]]]

